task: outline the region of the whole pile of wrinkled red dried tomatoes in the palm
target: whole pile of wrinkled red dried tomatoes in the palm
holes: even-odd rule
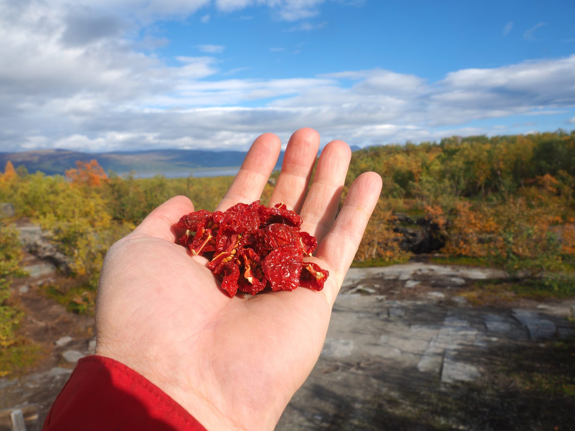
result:
[[[177,226],[186,229],[179,243],[193,255],[213,252],[208,268],[233,297],[238,290],[255,295],[267,286],[274,291],[323,288],[329,273],[304,262],[317,240],[300,230],[301,222],[284,203],[266,207],[255,201],[224,212],[194,211]]]

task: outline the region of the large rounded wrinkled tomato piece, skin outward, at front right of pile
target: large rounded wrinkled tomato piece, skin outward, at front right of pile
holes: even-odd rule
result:
[[[303,255],[292,245],[278,247],[262,261],[263,274],[272,290],[294,290],[300,285]]]

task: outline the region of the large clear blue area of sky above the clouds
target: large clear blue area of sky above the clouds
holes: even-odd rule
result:
[[[246,67],[237,76],[249,78],[384,68],[439,80],[463,68],[492,68],[575,52],[573,1],[368,0],[356,6],[332,1],[318,12],[290,22],[264,7],[224,13],[212,6],[185,20],[162,22],[152,31],[170,40],[158,50],[167,59],[197,56],[196,45],[221,45],[222,70]],[[206,15],[209,21],[202,25]],[[294,30],[304,23],[313,30]],[[524,36],[539,23],[545,25],[532,32],[532,39]]]

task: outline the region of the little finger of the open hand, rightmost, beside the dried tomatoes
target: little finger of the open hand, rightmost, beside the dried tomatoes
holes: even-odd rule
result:
[[[327,263],[329,283],[323,290],[328,302],[333,304],[342,286],[343,278],[354,260],[355,252],[363,237],[367,221],[381,193],[381,176],[365,172],[351,184],[350,192],[339,211],[333,227],[321,241],[316,256]]]

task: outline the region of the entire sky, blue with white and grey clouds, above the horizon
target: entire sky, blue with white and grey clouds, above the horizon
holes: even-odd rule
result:
[[[0,151],[575,129],[575,2],[0,0]]]

